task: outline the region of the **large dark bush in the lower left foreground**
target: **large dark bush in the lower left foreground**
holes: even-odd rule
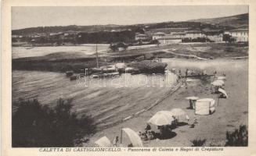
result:
[[[13,147],[72,147],[74,140],[95,133],[93,120],[71,112],[72,100],[59,99],[54,108],[38,100],[19,101],[13,113]]]

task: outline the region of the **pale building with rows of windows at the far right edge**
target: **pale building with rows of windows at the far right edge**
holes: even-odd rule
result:
[[[225,34],[229,34],[235,39],[236,42],[247,42],[249,41],[248,28],[240,28],[236,30],[226,31]]]

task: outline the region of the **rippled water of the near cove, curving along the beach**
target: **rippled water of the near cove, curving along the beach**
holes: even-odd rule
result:
[[[37,98],[42,105],[52,107],[59,97],[73,98],[74,112],[92,115],[100,129],[153,105],[175,85],[176,76],[173,73],[170,77],[127,73],[120,79],[92,80],[85,87],[83,80],[78,84],[64,73],[14,70],[12,83],[13,102],[19,98]]]

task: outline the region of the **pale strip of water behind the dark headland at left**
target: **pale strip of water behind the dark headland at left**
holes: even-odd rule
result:
[[[106,52],[108,44],[98,44],[99,52]],[[56,47],[13,47],[13,58],[24,58],[33,56],[49,55],[55,52],[84,52],[86,55],[96,53],[95,44],[84,44],[79,46],[56,46]]]

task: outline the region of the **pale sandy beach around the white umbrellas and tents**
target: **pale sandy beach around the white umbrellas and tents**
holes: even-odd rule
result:
[[[139,116],[121,122],[117,126],[104,129],[96,133],[85,147],[92,144],[100,137],[106,136],[110,140],[114,137],[121,136],[121,128],[128,127],[136,132],[144,131],[146,122],[158,111],[168,111],[172,108],[182,108],[189,115],[189,123],[197,119],[197,125],[194,128],[190,126],[179,126],[173,129],[175,136],[168,140],[149,140],[144,141],[144,147],[185,147],[192,146],[190,140],[206,139],[207,146],[224,146],[226,131],[233,131],[240,125],[248,125],[248,60],[231,60],[231,59],[215,59],[207,61],[198,61],[191,59],[167,59],[168,69],[181,69],[182,73],[186,69],[206,70],[208,74],[215,71],[218,76],[224,73],[226,76],[225,90],[229,95],[227,99],[220,99],[219,105],[218,95],[211,94],[211,82],[202,83],[200,81],[192,81],[187,87],[180,87],[174,94],[161,101],[159,105],[143,112]],[[194,111],[187,109],[189,101],[186,97],[197,96],[200,98],[211,97],[215,99],[215,113],[212,115],[195,115]],[[132,102],[132,101],[131,101]],[[136,107],[136,106],[135,106]],[[152,126],[155,129],[154,126]],[[157,131],[157,129],[156,129]],[[130,140],[123,133],[122,143],[124,147],[130,144]]]

